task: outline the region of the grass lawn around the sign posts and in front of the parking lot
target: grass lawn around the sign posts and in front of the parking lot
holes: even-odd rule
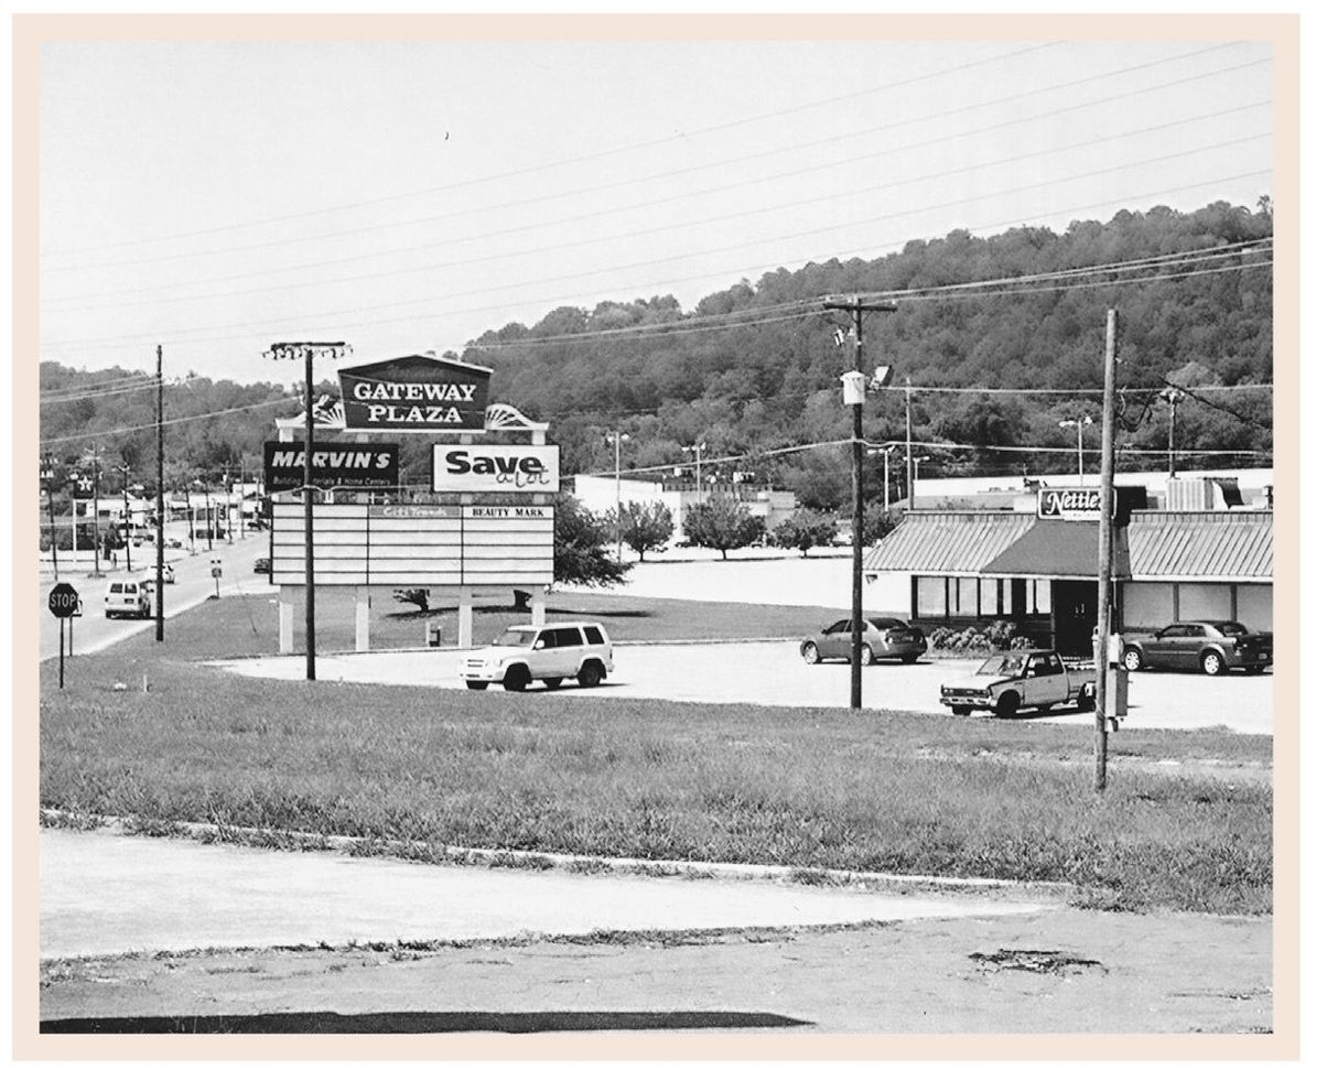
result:
[[[322,631],[329,601],[320,649],[342,645],[330,609]],[[556,595],[549,619],[561,613],[602,619],[617,640],[790,636],[819,620],[583,593]],[[382,613],[374,647],[391,645],[393,627],[414,633],[399,645],[421,645],[422,624]],[[42,666],[42,806],[145,831],[210,822],[361,836],[368,850],[409,842],[419,858],[459,846],[752,862],[1070,881],[1082,901],[1124,909],[1271,908],[1270,785],[1121,761],[1097,794],[1089,729],[252,680],[196,664],[272,653],[275,631],[265,597],[230,597],[169,621],[165,644],[149,631],[80,654],[62,692]],[[1222,731],[1127,730],[1111,747],[1271,762],[1270,738]]]

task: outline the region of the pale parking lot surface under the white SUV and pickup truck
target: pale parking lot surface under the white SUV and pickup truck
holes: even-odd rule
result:
[[[318,657],[320,680],[360,684],[409,684],[460,689],[459,650],[393,650]],[[666,698],[678,702],[750,702],[767,706],[843,709],[849,697],[849,666],[807,665],[795,640],[755,643],[618,644],[614,672],[593,689],[545,692],[533,685],[533,702],[579,702],[622,698]],[[232,672],[280,680],[303,680],[304,656],[220,662]],[[867,710],[909,710],[951,716],[940,704],[940,685],[970,674],[978,661],[924,658],[916,665],[881,662],[863,668],[861,700]],[[1135,673],[1129,677],[1127,726],[1200,729],[1270,734],[1274,720],[1273,674],[1230,673],[1204,677],[1184,673]],[[500,690],[499,685],[494,688]],[[475,693],[475,701],[484,694]],[[1046,716],[1024,714],[1048,725],[1089,725],[1093,714],[1074,708]]]

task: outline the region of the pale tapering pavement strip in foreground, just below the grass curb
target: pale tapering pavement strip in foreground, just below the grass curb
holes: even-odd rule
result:
[[[429,866],[48,828],[41,957],[844,925],[1046,905],[1031,893],[825,888],[771,880],[760,867],[697,868],[711,879]]]

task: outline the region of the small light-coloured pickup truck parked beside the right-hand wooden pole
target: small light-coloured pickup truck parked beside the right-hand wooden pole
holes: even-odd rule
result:
[[[1013,717],[1022,709],[1048,710],[1066,702],[1091,710],[1095,698],[1093,666],[1067,664],[1055,650],[1005,650],[986,658],[973,676],[940,689],[940,701],[958,717],[973,710]]]

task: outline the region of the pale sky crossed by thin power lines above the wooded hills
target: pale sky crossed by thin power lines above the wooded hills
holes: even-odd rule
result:
[[[1254,41],[68,41],[41,357],[293,377],[557,305],[1273,190]]]

